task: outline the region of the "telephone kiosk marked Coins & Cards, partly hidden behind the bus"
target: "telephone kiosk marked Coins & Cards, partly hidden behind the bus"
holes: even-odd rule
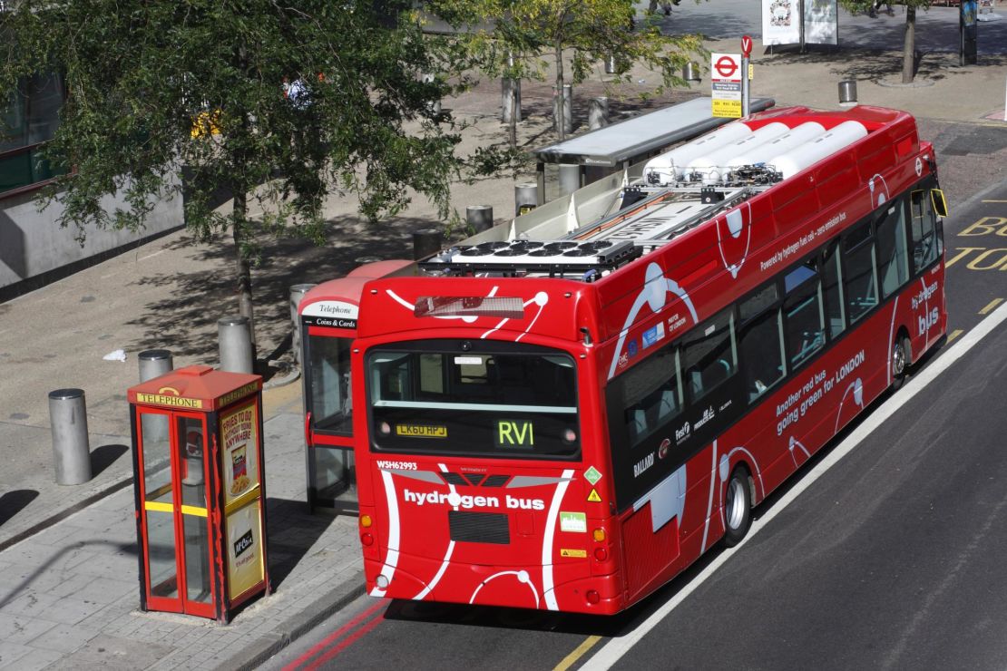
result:
[[[356,512],[349,345],[364,285],[406,272],[411,261],[366,264],[344,278],[312,287],[301,299],[301,361],[308,509]]]

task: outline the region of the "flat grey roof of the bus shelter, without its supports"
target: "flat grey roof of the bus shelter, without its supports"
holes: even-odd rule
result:
[[[710,104],[708,97],[694,98],[532,153],[539,163],[617,166],[727,123],[710,116]],[[751,111],[761,112],[773,105],[771,98],[757,98],[751,102]]]

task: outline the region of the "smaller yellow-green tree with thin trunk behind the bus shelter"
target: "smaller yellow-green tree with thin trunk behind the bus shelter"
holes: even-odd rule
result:
[[[486,38],[477,51],[487,73],[541,78],[546,68],[542,54],[552,56],[560,140],[566,138],[564,54],[571,55],[574,85],[587,77],[593,63],[615,54],[619,68],[613,81],[624,80],[630,64],[642,62],[661,71],[660,89],[664,89],[685,83],[678,73],[691,60],[691,53],[703,50],[698,35],[664,35],[651,15],[634,30],[635,10],[628,0],[434,0],[427,4],[454,25],[481,24],[470,30]],[[509,61],[512,55],[513,63]]]

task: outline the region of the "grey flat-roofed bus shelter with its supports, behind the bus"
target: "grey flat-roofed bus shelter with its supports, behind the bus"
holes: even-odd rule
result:
[[[752,114],[775,105],[771,98],[751,101]],[[733,119],[712,116],[709,97],[671,105],[596,131],[532,152],[537,161],[539,205],[546,202],[546,165],[560,166],[560,181],[574,191],[644,159],[672,145],[691,140]],[[575,173],[576,183],[566,184],[564,172]]]

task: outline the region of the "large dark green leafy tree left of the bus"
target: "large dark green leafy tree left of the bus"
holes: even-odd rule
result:
[[[320,242],[333,192],[358,195],[372,220],[405,207],[407,187],[447,213],[458,136],[429,103],[450,87],[419,73],[464,63],[422,34],[411,4],[21,0],[0,12],[0,95],[62,72],[66,100],[43,158],[65,174],[42,206],[60,202],[60,223],[83,241],[90,225],[141,228],[157,199],[184,188],[196,239],[231,229],[251,321],[257,233]],[[214,209],[222,188],[230,214]],[[125,205],[107,211],[114,193]]]

